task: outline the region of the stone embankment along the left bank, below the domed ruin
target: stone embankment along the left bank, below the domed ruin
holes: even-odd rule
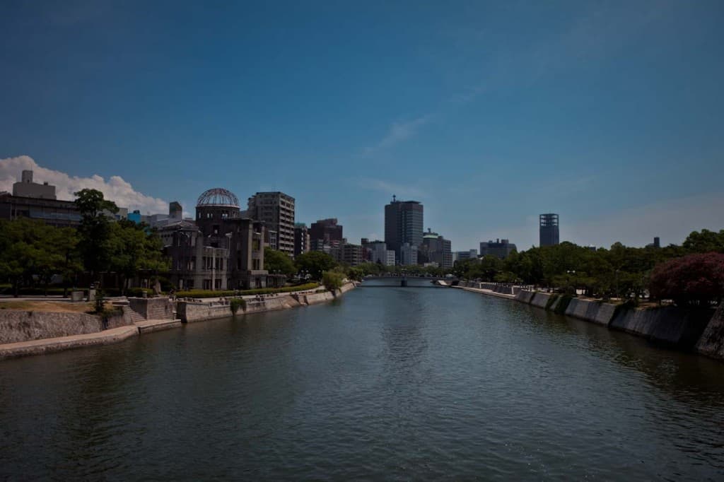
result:
[[[259,296],[245,300],[232,313],[230,300],[178,301],[169,298],[130,298],[114,303],[108,318],[87,313],[0,311],[0,360],[123,342],[153,331],[185,323],[271,310],[297,308],[334,300],[353,289],[348,282],[334,292],[300,292]]]

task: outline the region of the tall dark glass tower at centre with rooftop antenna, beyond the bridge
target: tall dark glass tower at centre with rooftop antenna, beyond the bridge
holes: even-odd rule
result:
[[[398,260],[402,259],[400,249],[405,243],[414,246],[416,250],[421,247],[422,229],[422,204],[413,200],[400,201],[392,196],[392,203],[384,206],[384,242],[387,243],[387,249],[395,251]]]

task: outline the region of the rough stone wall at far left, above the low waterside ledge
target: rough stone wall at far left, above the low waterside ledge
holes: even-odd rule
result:
[[[0,344],[98,333],[128,324],[130,321],[122,315],[111,317],[104,324],[99,316],[86,313],[0,310]]]

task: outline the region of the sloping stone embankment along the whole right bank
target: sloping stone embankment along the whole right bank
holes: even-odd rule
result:
[[[598,300],[580,300],[555,293],[516,290],[516,287],[504,287],[508,292],[468,286],[457,288],[481,295],[515,300],[546,311],[606,326],[608,329],[625,331],[661,346],[724,360],[724,305],[717,310],[675,306],[631,308]]]

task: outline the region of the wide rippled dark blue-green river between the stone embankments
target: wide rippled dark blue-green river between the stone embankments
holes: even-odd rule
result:
[[[724,363],[429,286],[1,362],[0,480],[724,480]]]

